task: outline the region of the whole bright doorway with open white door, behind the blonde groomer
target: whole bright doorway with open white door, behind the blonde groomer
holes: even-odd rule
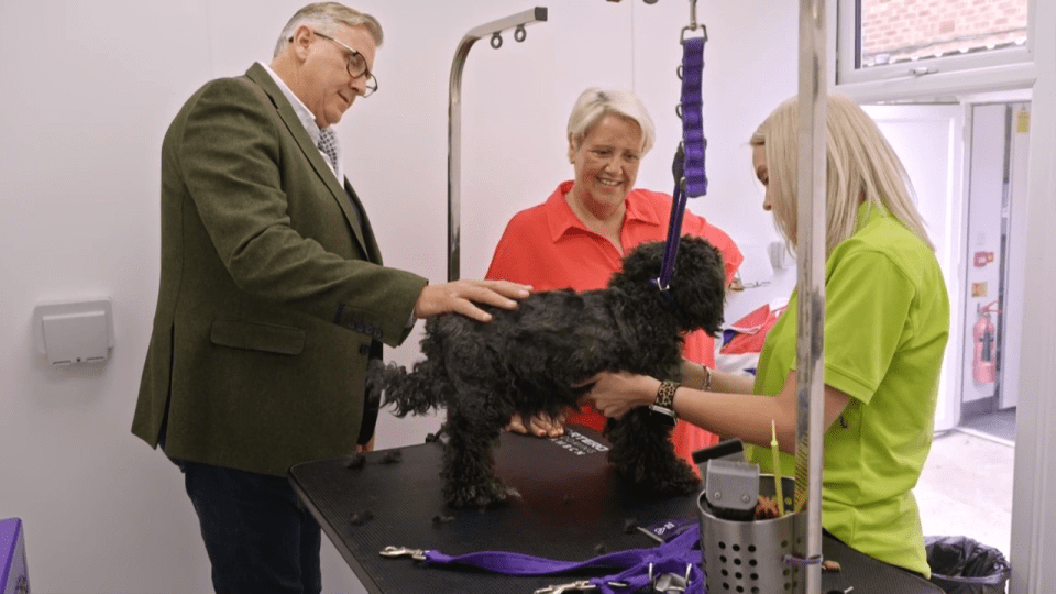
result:
[[[1023,302],[1027,266],[1025,209],[1016,208],[1026,191],[1027,99],[866,106],[906,168],[950,301],[935,438],[914,488],[923,528],[1005,554],[1024,326],[1022,308],[1008,304]],[[992,327],[980,324],[977,339],[987,317]],[[978,359],[989,366],[976,363],[977,344],[989,349]]]

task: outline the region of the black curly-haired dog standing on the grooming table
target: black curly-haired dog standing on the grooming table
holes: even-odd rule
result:
[[[718,332],[725,292],[719,252],[703,239],[681,238],[668,293],[651,283],[663,253],[664,242],[641,244],[607,288],[536,293],[513,311],[486,308],[494,316],[488,323],[432,318],[421,341],[426,359],[411,373],[395,364],[372,367],[373,395],[383,391],[397,416],[447,407],[442,479],[449,505],[506,498],[491,448],[514,413],[528,419],[578,407],[590,386],[571,386],[603,370],[678,380],[681,333]],[[675,455],[671,429],[647,407],[606,425],[618,475],[647,496],[685,495],[700,486]]]

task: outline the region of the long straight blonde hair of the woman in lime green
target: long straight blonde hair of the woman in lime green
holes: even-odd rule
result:
[[[924,221],[916,209],[913,185],[905,167],[880,128],[858,103],[831,95],[826,128],[826,245],[831,254],[855,233],[858,206],[868,202],[890,212],[932,250]],[[770,202],[778,229],[796,244],[796,188],[799,180],[799,102],[789,99],[761,123],[749,141],[767,153]]]

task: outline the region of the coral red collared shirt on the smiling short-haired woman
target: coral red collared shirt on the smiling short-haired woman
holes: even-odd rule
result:
[[[572,184],[564,182],[546,202],[514,215],[495,248],[487,278],[531,285],[535,290],[590,290],[608,284],[608,278],[623,264],[623,254],[572,212],[564,199]],[[635,189],[627,195],[626,202],[619,238],[624,253],[639,243],[667,239],[671,196]],[[706,239],[722,252],[726,282],[733,280],[744,256],[729,235],[690,211],[682,218],[681,234],[686,233]],[[714,366],[715,342],[704,332],[694,332],[686,338],[683,354],[691,361]],[[588,406],[581,413],[571,413],[569,422],[601,431],[605,417]],[[686,460],[692,460],[693,451],[717,442],[715,436],[688,422],[675,427],[673,439],[675,450]]]

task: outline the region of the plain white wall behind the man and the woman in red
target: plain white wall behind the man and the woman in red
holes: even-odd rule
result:
[[[205,592],[208,563],[182,477],[129,431],[158,275],[161,139],[206,80],[267,61],[293,0],[0,2],[0,517],[25,521],[35,592]],[[447,97],[473,26],[512,0],[355,6],[380,18],[381,90],[340,127],[346,167],[386,262],[446,278]],[[670,191],[674,69],[685,2],[551,0],[549,22],[502,50],[480,42],[463,84],[463,276],[481,276],[508,217],[571,177],[564,125],[586,86],[634,87],[660,128],[641,185]],[[765,19],[760,19],[766,14]],[[795,92],[796,12],[769,0],[702,3],[708,25],[710,193],[691,208],[739,241],[776,238],[745,144]],[[781,293],[784,293],[782,289]],[[758,302],[769,300],[763,292]],[[105,365],[53,370],[36,304],[109,296]],[[416,358],[417,337],[391,354]],[[380,447],[421,442],[436,418],[383,416]],[[326,546],[324,587],[358,582]]]

